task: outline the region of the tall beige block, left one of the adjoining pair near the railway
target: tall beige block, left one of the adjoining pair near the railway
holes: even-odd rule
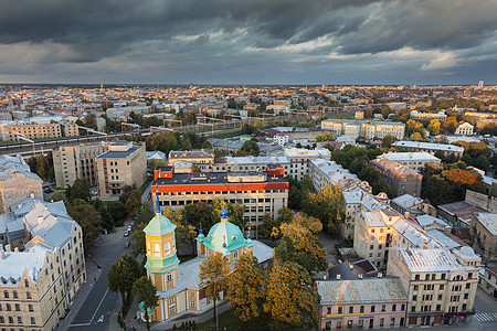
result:
[[[55,184],[66,189],[76,179],[86,179],[92,185],[97,184],[95,159],[106,152],[108,142],[63,145],[52,151]]]

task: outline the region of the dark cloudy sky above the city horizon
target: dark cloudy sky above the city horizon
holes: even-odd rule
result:
[[[497,84],[497,0],[2,0],[1,83]]]

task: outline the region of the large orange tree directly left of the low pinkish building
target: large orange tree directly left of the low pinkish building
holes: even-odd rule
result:
[[[266,302],[273,327],[309,327],[318,321],[319,295],[311,287],[309,274],[296,263],[273,268],[267,277]]]

